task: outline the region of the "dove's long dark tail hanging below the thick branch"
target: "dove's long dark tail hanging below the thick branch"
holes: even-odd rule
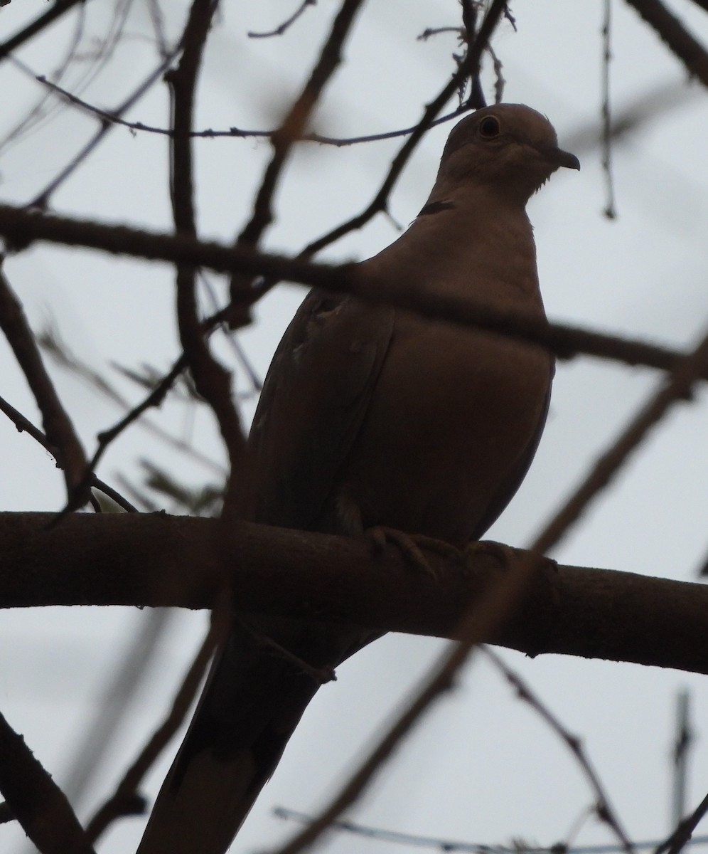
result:
[[[212,665],[137,854],[227,851],[316,693],[318,672],[359,646],[351,627],[271,618],[237,625]]]

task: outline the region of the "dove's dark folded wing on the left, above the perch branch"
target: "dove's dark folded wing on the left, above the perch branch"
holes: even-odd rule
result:
[[[336,529],[323,518],[337,472],[356,439],[395,311],[310,291],[288,326],[253,419],[253,521]]]

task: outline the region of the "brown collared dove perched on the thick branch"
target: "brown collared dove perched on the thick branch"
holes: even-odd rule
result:
[[[408,231],[357,275],[543,317],[525,213],[559,167],[543,115],[478,110]],[[554,363],[484,330],[316,290],[282,338],[249,438],[245,515],[287,528],[479,539],[531,464]],[[138,854],[223,854],[328,672],[373,640],[341,623],[235,615]]]

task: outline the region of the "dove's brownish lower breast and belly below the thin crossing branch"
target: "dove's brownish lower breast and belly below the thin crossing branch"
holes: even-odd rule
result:
[[[339,479],[364,525],[481,535],[525,474],[551,374],[542,348],[400,314]]]

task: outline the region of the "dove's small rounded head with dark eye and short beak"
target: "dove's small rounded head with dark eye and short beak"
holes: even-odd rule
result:
[[[520,202],[560,167],[579,169],[575,155],[558,147],[551,123],[523,104],[496,104],[453,128],[440,161],[438,182],[491,184]]]

